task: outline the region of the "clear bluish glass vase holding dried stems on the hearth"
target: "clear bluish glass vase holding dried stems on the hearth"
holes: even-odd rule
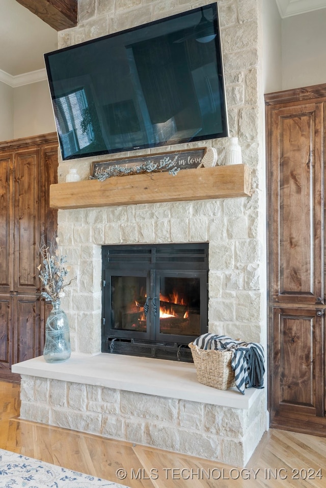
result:
[[[60,300],[52,302],[52,306],[45,324],[43,357],[47,363],[66,361],[71,354],[67,315],[60,308]]]

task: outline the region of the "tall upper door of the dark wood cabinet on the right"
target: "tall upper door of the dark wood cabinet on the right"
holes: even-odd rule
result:
[[[270,299],[323,303],[324,103],[273,107],[270,124]]]

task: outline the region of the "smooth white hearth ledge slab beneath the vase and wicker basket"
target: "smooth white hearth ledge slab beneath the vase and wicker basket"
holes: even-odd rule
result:
[[[12,371],[19,375],[246,410],[253,405],[260,391],[248,388],[242,395],[236,388],[224,391],[202,385],[197,380],[193,363],[117,354],[72,353],[63,363],[47,363],[40,356],[13,364]]]

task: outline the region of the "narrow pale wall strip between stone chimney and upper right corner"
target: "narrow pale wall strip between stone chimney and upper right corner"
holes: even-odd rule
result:
[[[275,0],[263,0],[263,91],[282,89],[282,22]]]

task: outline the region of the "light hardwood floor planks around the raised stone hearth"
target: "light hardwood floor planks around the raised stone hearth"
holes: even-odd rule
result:
[[[0,381],[0,448],[131,488],[322,487],[326,439],[270,429],[244,469],[19,420],[19,385]],[[119,479],[119,470],[126,470]],[[123,473],[124,471],[120,471]]]

